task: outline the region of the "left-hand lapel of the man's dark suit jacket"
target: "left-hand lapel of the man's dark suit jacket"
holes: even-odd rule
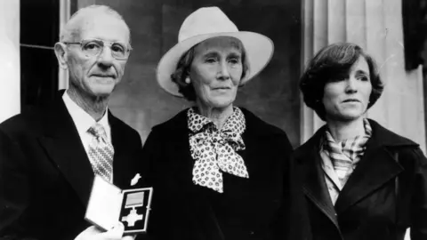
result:
[[[58,166],[83,204],[87,204],[93,170],[77,128],[62,99],[45,116],[44,135],[39,138],[48,156]]]

